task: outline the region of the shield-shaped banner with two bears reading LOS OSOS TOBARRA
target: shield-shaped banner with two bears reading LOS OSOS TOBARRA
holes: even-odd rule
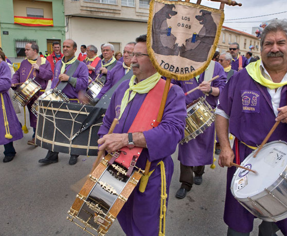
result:
[[[223,20],[220,9],[152,0],[147,47],[156,70],[176,80],[201,74],[216,51]]]

